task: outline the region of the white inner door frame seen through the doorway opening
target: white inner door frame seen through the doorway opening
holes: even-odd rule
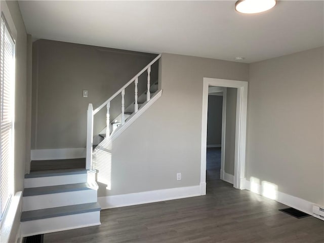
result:
[[[227,97],[227,88],[226,87],[219,87],[219,86],[212,86],[208,87],[208,94],[215,93],[215,92],[222,92],[223,96],[223,105],[222,105],[222,139],[221,139],[221,173],[220,178],[224,180],[225,178],[225,133],[226,133],[226,97]],[[208,104],[207,104],[208,105]]]

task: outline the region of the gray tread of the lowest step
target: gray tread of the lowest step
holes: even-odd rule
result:
[[[98,203],[78,204],[78,205],[70,205],[70,206],[63,206],[57,208],[39,209],[39,210],[22,212],[20,221],[24,222],[24,221],[37,220],[37,219],[47,219],[47,218],[65,216],[65,215],[95,212],[100,210],[101,207]]]

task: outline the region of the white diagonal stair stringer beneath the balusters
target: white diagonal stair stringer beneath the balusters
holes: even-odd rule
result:
[[[113,131],[109,137],[106,137],[98,146],[93,150],[93,155],[98,151],[104,149],[107,144],[111,144],[121,133],[123,133],[134,121],[141,116],[158,98],[161,97],[163,90],[156,91],[155,94],[150,98],[149,101],[146,101],[142,104],[141,108],[130,115],[127,119],[127,122],[124,125],[119,126],[115,131]]]

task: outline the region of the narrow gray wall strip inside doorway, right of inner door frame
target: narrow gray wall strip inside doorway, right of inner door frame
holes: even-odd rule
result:
[[[237,89],[227,88],[224,171],[234,175]]]

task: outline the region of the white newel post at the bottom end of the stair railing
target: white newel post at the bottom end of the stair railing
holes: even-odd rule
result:
[[[93,145],[93,106],[89,104],[87,113],[87,157],[86,169],[92,169],[92,145]]]

